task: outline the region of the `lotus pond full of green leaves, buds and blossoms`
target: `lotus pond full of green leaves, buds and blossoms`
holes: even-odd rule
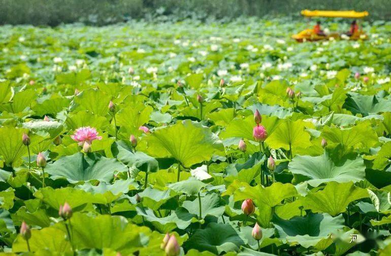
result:
[[[0,27],[0,255],[391,255],[391,23],[305,27]]]

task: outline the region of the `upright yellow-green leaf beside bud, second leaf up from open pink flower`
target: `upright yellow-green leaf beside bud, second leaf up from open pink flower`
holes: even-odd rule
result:
[[[94,115],[103,117],[109,112],[108,105],[110,100],[110,95],[93,88],[82,91],[74,99],[78,105],[77,110],[87,110]]]

